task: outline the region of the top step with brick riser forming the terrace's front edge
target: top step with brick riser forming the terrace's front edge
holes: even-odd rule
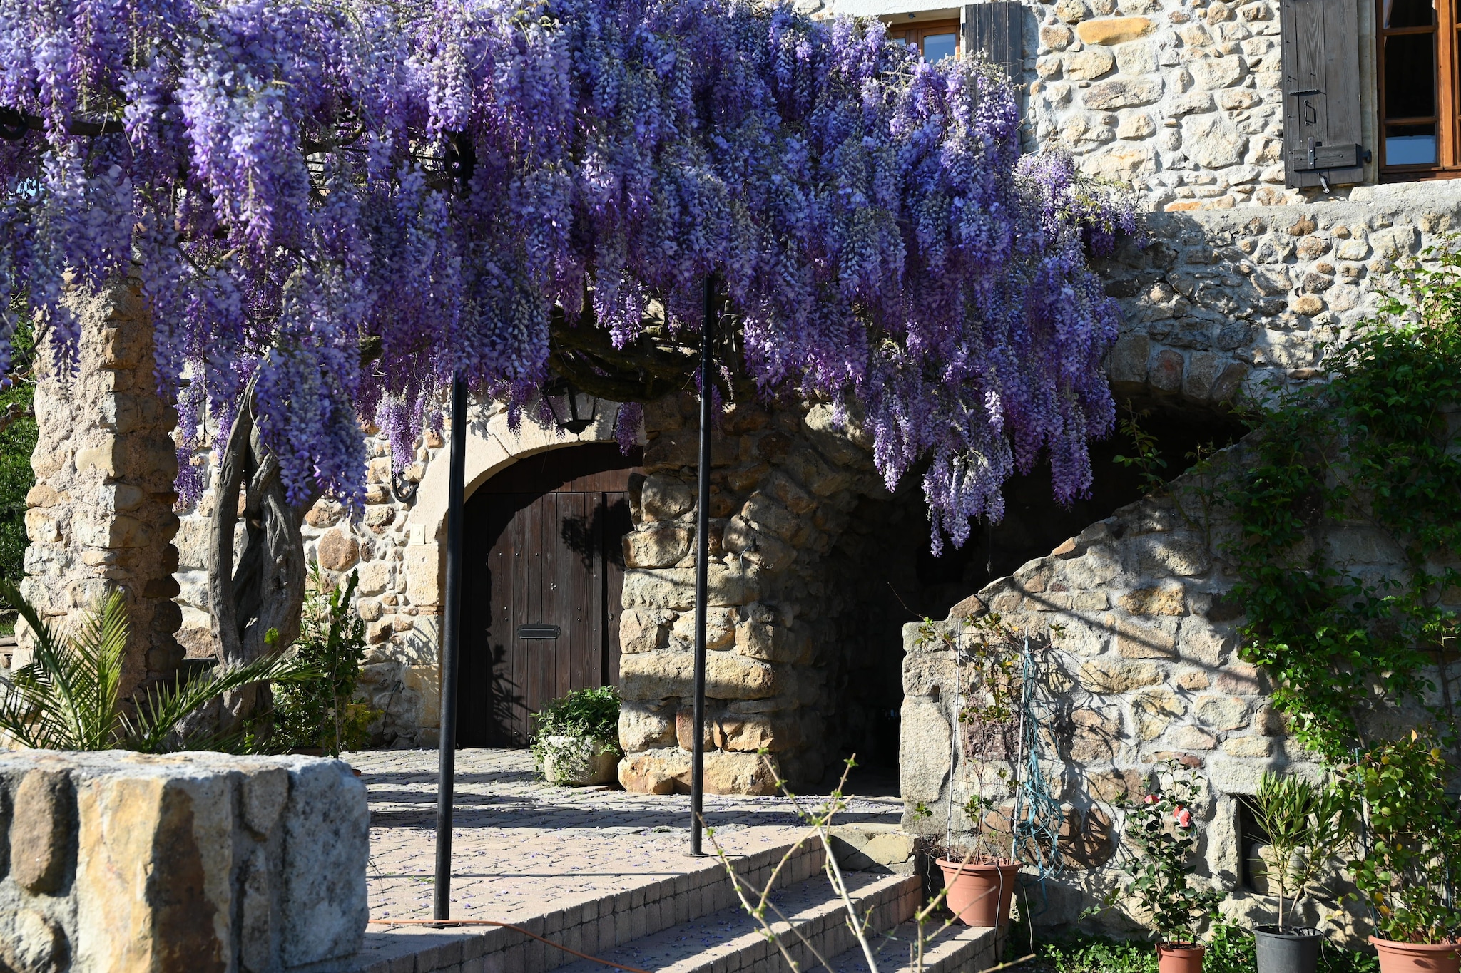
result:
[[[790,859],[776,878],[786,888],[821,874],[825,850],[820,842],[771,845],[751,855],[732,856],[736,874],[757,887],[786,852]],[[589,955],[605,955],[636,939],[663,932],[719,912],[739,909],[723,865],[714,858],[681,874],[646,877],[633,888],[584,900],[545,902],[536,915],[501,916],[545,939]],[[825,884],[825,878],[821,880]],[[462,919],[498,916],[463,915]],[[903,916],[899,916],[901,919]],[[896,922],[896,920],[894,920]],[[888,922],[891,928],[894,922]],[[514,929],[492,926],[370,926],[365,947],[351,960],[310,973],[546,973],[579,960]],[[590,964],[593,969],[609,967]]]

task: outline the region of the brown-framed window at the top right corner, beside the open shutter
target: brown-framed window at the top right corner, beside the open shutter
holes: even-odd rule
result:
[[[1455,96],[1461,0],[1376,3],[1382,177],[1461,175]]]

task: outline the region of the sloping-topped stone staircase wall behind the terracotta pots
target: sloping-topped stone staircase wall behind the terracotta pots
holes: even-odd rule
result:
[[[1246,455],[1243,443],[1230,448],[1218,470],[1243,464]],[[1194,808],[1199,874],[1233,893],[1223,912],[1273,920],[1271,900],[1243,884],[1240,855],[1252,848],[1243,848],[1239,834],[1237,798],[1255,792],[1264,770],[1309,778],[1322,772],[1286,735],[1268,702],[1267,677],[1237,658],[1242,607],[1226,598],[1235,578],[1220,554],[1232,527],[1202,500],[1217,476],[1182,477],[1172,495],[1118,509],[1048,557],[985,586],[929,630],[904,627],[904,827],[934,842],[947,842],[950,830],[954,843],[972,840],[963,805],[974,794],[1010,807],[1008,779],[998,772],[1012,773],[1015,753],[1001,734],[974,734],[969,724],[951,743],[958,712],[970,699],[988,697],[950,642],[970,652],[980,637],[972,620],[993,613],[1012,633],[1007,651],[1018,651],[1024,636],[1034,646],[1039,759],[1065,813],[1058,852],[1068,868],[1046,881],[1050,907],[1036,916],[1040,923],[1078,922],[1081,910],[1099,904],[1121,880],[1113,833],[1122,814],[1113,802],[1144,792],[1147,775],[1169,760],[1207,785]],[[1313,543],[1366,578],[1404,570],[1401,551],[1372,527],[1328,522],[1316,528]],[[1410,721],[1404,710],[1378,716],[1401,726]],[[988,824],[1008,833],[999,815]],[[1309,920],[1316,920],[1315,903],[1306,904]],[[1119,912],[1096,912],[1087,926],[1132,929]],[[1354,920],[1350,915],[1350,931]]]

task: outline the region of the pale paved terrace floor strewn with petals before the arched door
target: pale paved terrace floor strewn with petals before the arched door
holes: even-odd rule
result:
[[[430,919],[435,869],[437,751],[345,754],[370,794],[373,919]],[[799,798],[804,807],[818,796]],[[899,798],[849,798],[837,823],[891,821]],[[687,853],[690,795],[549,786],[526,750],[462,750],[451,829],[451,918],[513,920],[714,867]],[[782,796],[706,795],[706,821],[729,853],[798,831]],[[709,840],[706,848],[710,848]]]

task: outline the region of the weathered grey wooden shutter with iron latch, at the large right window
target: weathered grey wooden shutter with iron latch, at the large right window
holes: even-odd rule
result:
[[[1362,181],[1357,0],[1281,0],[1278,19],[1286,184]]]

